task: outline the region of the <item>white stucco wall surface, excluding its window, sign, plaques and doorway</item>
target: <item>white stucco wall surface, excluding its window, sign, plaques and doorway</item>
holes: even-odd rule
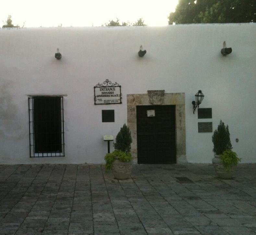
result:
[[[233,50],[226,57],[223,41]],[[242,162],[256,162],[255,23],[0,29],[0,48],[0,164],[104,162],[103,135],[127,122],[126,95],[147,90],[185,93],[188,162],[211,162],[213,133],[198,133],[197,122],[214,130],[220,119]],[[122,86],[122,104],[94,105],[93,86],[105,79]],[[199,89],[212,119],[193,114]],[[29,157],[27,95],[42,94],[67,94],[63,158]],[[114,123],[102,123],[102,109],[115,110]]]

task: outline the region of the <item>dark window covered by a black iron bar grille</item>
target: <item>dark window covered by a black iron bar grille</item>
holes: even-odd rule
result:
[[[64,157],[62,96],[33,96],[29,103],[30,157]]]

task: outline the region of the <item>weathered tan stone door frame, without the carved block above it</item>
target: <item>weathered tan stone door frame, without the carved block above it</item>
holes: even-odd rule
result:
[[[127,94],[127,126],[131,131],[131,153],[137,160],[137,105],[155,105],[150,103],[148,94]],[[185,126],[185,93],[165,93],[161,105],[175,105],[176,160],[187,162],[186,126]]]

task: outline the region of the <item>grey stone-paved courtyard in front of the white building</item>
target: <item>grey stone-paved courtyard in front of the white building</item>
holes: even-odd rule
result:
[[[0,234],[256,234],[256,164],[0,165]]]

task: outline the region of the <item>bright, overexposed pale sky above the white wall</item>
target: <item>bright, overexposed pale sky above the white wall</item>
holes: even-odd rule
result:
[[[20,27],[101,26],[109,20],[137,22],[143,18],[148,26],[168,25],[170,12],[178,0],[10,0],[0,7],[0,27],[8,15]]]

